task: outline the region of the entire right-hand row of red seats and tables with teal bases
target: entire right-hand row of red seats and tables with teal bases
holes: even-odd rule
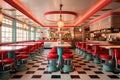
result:
[[[120,45],[77,42],[76,52],[95,64],[102,64],[103,70],[120,71]]]

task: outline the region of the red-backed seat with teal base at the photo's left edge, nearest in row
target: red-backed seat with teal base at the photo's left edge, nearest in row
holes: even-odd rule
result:
[[[14,63],[13,58],[8,58],[8,51],[0,51],[0,80],[10,77],[10,69]]]

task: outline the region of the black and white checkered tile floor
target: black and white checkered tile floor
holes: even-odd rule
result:
[[[102,65],[94,64],[84,59],[74,50],[73,72],[47,72],[46,55],[49,49],[45,49],[35,60],[29,61],[28,70],[22,72],[11,72],[9,80],[120,80],[118,73],[106,72],[101,69]]]

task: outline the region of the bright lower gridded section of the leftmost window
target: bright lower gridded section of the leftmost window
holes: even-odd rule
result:
[[[1,41],[2,42],[12,42],[12,28],[7,26],[2,26],[1,28]]]

